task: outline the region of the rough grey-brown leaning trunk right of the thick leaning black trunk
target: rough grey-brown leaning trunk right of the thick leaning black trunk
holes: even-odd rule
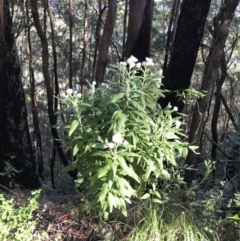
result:
[[[201,90],[206,91],[206,94],[203,98],[198,99],[194,106],[189,132],[189,143],[196,146],[199,146],[200,144],[200,137],[205,120],[205,112],[210,105],[210,95],[218,77],[218,71],[221,65],[221,59],[228,36],[229,27],[238,4],[239,0],[225,0],[217,16],[213,19],[214,39],[201,85]],[[197,168],[197,155],[194,152],[189,151],[186,164],[188,166]],[[194,179],[194,176],[195,171],[186,170],[185,181],[187,183],[191,183]]]

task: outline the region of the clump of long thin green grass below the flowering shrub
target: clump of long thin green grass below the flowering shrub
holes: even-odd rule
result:
[[[181,206],[142,204],[126,241],[215,241],[214,232]]]

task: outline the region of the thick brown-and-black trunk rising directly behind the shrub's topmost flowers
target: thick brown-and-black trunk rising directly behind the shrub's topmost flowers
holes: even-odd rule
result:
[[[140,62],[150,57],[153,0],[130,0],[126,54]]]

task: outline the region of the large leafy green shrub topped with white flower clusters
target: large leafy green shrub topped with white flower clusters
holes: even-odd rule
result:
[[[156,186],[159,179],[174,179],[176,158],[185,157],[189,149],[181,139],[181,115],[172,115],[177,108],[157,105],[165,94],[157,88],[161,85],[157,67],[150,58],[144,68],[139,64],[131,56],[113,66],[118,81],[107,80],[97,89],[93,82],[84,96],[60,98],[66,104],[62,114],[70,123],[55,127],[62,130],[63,142],[74,156],[64,170],[77,170],[76,185],[89,192],[92,205],[100,204],[104,218],[113,209],[127,215],[126,203],[140,198],[148,183]],[[160,195],[157,198],[162,201]]]

